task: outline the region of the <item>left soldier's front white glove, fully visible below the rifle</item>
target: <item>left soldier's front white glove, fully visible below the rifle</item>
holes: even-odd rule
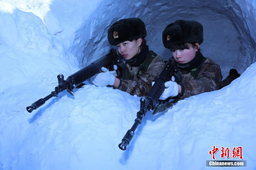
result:
[[[115,82],[115,76],[113,74],[110,73],[110,71],[108,71],[107,68],[105,67],[101,67],[101,73],[97,74],[95,77],[94,77],[94,80],[92,80],[92,83],[95,85],[95,86],[113,86],[114,85],[114,82]]]

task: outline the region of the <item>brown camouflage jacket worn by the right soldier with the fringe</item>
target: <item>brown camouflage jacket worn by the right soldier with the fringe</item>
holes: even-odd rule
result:
[[[180,98],[218,90],[220,87],[222,80],[220,66],[209,58],[206,58],[201,66],[197,79],[188,70],[180,71],[182,75],[182,82],[179,83],[182,87]]]

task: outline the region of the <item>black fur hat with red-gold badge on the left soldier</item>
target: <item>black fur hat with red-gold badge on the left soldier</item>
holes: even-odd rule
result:
[[[108,29],[108,42],[111,45],[137,38],[145,38],[146,36],[145,24],[139,18],[121,19]]]

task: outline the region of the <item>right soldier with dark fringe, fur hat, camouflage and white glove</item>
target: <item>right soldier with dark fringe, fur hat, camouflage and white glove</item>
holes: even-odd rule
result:
[[[222,80],[218,64],[205,58],[199,49],[203,42],[203,26],[197,21],[176,20],[163,31],[164,47],[171,50],[181,73],[181,83],[167,81],[161,100],[180,99],[218,90]]]

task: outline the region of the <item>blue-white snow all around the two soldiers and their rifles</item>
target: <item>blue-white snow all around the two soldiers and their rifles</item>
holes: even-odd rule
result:
[[[164,1],[0,1],[0,169],[208,169],[205,161],[212,160],[209,150],[213,145],[242,146],[247,161],[247,167],[214,169],[255,169],[255,2],[235,2],[227,6],[204,2],[209,8],[200,10],[205,14],[195,17],[200,11],[195,8],[190,19],[203,22],[205,36],[221,42],[207,50],[211,42],[205,38],[203,54],[217,53],[225,41],[232,41],[221,48],[219,58],[213,56],[217,62],[222,58],[228,62],[225,57],[233,56],[226,54],[236,53],[237,62],[225,66],[220,61],[224,74],[233,66],[240,73],[249,67],[221,90],[184,99],[165,113],[153,116],[148,112],[122,151],[118,144],[139,111],[140,97],[136,95],[86,81],[75,96],[65,91],[32,113],[26,107],[54,90],[58,74],[67,78],[108,53],[108,27],[120,18],[141,17],[149,46],[168,57],[170,53],[161,45],[162,29],[182,9],[190,11],[194,3],[187,8],[184,1],[174,17],[167,19],[170,5],[163,5]],[[177,5],[173,3],[171,8]],[[229,6],[237,12],[233,19],[232,11],[220,14]],[[216,17],[206,9],[215,10]],[[243,16],[245,20],[239,19]],[[161,23],[163,20],[167,21]],[[222,29],[230,28],[225,41],[221,37],[228,31],[224,29],[222,35],[217,30],[220,24]],[[241,40],[238,44],[236,36]],[[217,160],[221,160],[219,154]]]

